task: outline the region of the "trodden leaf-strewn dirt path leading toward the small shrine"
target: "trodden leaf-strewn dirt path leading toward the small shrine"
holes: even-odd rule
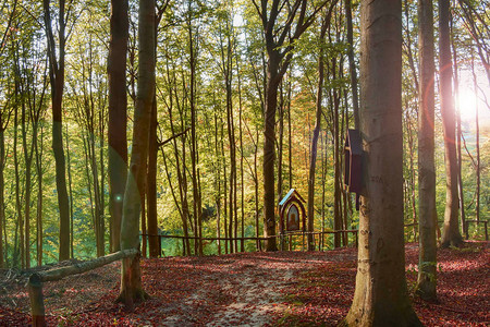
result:
[[[210,269],[199,277],[205,287],[177,303],[161,326],[201,325],[206,312],[211,316],[205,326],[264,326],[285,310],[281,291],[301,268],[298,262],[260,254],[216,257],[207,265]]]

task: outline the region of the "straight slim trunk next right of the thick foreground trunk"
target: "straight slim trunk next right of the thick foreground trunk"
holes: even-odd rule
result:
[[[434,165],[434,63],[432,0],[418,2],[419,116],[418,116],[418,211],[419,263],[417,294],[436,300],[436,165]]]

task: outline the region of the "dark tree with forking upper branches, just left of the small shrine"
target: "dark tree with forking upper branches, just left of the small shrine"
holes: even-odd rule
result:
[[[257,0],[253,3],[260,16],[266,51],[268,55],[267,63],[267,83],[266,83],[266,106],[264,131],[264,231],[266,237],[272,237],[267,240],[266,250],[277,251],[275,238],[275,196],[274,196],[274,140],[275,140],[275,111],[278,107],[278,88],[287,68],[293,59],[294,43],[314,22],[315,15],[322,5],[313,9],[308,14],[308,1],[295,0],[289,1],[274,0],[272,4],[269,1]],[[286,12],[285,16],[284,12]],[[284,22],[282,25],[281,23]],[[295,23],[293,29],[293,23]]]

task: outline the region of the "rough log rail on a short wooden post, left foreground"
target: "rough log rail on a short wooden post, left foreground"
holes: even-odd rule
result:
[[[91,261],[74,264],[66,267],[54,268],[30,275],[27,282],[27,291],[30,301],[30,314],[33,326],[46,326],[45,302],[42,298],[42,282],[60,280],[66,276],[77,275],[102,267],[112,262],[134,256],[138,253],[136,249],[122,250]]]

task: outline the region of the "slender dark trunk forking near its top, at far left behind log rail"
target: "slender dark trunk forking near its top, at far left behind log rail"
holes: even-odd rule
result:
[[[51,83],[52,109],[52,152],[56,161],[56,183],[58,194],[58,208],[60,213],[60,249],[59,261],[70,258],[70,208],[66,192],[66,175],[63,149],[62,102],[64,87],[64,56],[65,56],[65,1],[59,0],[58,13],[58,59],[56,40],[52,33],[50,14],[50,0],[44,0],[45,28],[48,41],[49,77]]]

